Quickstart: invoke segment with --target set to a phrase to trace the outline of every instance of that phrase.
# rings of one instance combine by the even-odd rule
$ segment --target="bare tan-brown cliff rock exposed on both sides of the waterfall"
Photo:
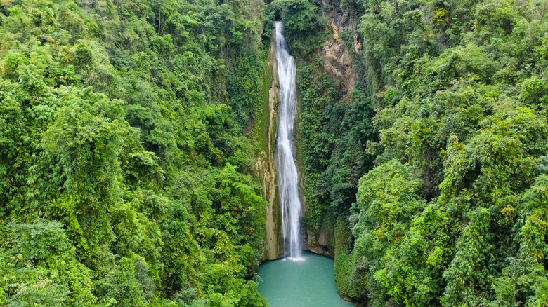
[[[318,51],[318,57],[322,60],[322,70],[333,79],[340,81],[339,93],[341,94],[341,103],[344,103],[350,100],[350,93],[356,80],[353,72],[352,54],[359,52],[362,48],[356,31],[358,22],[351,15],[344,12],[336,1],[322,0],[320,6],[328,20],[331,34],[325,43],[322,43],[322,48]],[[353,35],[351,38],[344,37],[345,39],[352,39],[351,43],[347,43],[341,37],[344,36],[343,33],[346,31]],[[276,123],[278,122],[276,107],[279,100],[279,81],[278,74],[276,74],[278,63],[275,59],[275,53],[275,31],[273,31],[267,62],[271,76],[268,95],[268,126],[265,128],[268,129],[268,150],[261,153],[261,158],[256,163],[256,170],[262,178],[263,193],[268,201],[266,209],[266,243],[268,249],[264,254],[264,259],[283,257],[280,200],[274,168]],[[297,139],[299,138],[297,137]],[[302,172],[299,170],[299,175],[301,174]],[[301,177],[301,186],[304,181]],[[304,203],[304,210],[306,210],[306,198],[301,195],[301,200]],[[319,229],[304,229],[302,235],[304,236],[305,250],[334,257],[334,227],[322,225]]]

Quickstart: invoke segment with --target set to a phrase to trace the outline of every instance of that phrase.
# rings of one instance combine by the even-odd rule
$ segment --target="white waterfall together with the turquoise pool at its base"
[[[350,306],[351,304],[343,301],[337,294],[333,261],[311,252],[303,255],[302,205],[293,150],[296,116],[295,60],[289,55],[282,23],[274,22],[274,27],[280,100],[275,165],[285,258],[261,264],[259,275],[262,281],[258,290],[273,307]]]

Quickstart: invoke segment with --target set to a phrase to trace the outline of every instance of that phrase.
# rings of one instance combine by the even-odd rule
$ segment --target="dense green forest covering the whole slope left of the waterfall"
[[[260,1],[0,1],[0,305],[263,306]]]

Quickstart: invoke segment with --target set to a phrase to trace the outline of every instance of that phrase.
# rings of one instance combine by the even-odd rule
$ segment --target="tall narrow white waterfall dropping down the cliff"
[[[295,59],[289,55],[282,35],[282,23],[275,22],[276,61],[280,82],[280,106],[278,139],[275,163],[278,173],[278,190],[282,210],[282,236],[286,256],[301,260],[301,200],[299,199],[299,177],[293,158],[293,122],[296,114]]]

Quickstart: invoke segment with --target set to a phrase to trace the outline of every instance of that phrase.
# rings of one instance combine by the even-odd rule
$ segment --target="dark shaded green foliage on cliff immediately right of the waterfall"
[[[299,129],[306,222],[310,226],[320,226],[325,214],[330,219],[348,215],[358,180],[372,165],[372,153],[363,149],[375,139],[373,110],[363,100],[363,92],[354,90],[351,101],[341,104],[339,85],[319,68],[305,66],[297,72],[303,104]]]

